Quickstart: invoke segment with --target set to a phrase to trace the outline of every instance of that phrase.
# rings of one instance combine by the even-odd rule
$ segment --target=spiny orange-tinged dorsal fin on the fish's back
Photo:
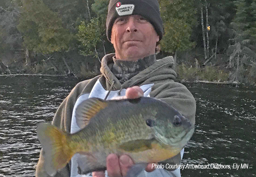
[[[100,98],[89,98],[81,102],[76,108],[76,123],[83,129],[101,109],[106,108],[107,102]]]

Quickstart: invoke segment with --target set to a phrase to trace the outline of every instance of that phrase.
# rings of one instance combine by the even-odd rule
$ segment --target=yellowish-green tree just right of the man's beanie
[[[190,0],[160,0],[160,12],[164,22],[165,35],[161,41],[161,49],[165,52],[187,50],[194,46],[190,36],[192,24],[196,21],[196,8]]]

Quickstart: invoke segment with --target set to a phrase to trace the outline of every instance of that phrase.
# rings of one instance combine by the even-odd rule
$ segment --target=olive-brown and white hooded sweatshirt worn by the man
[[[101,75],[95,78],[79,82],[70,94],[64,99],[56,114],[54,115],[52,124],[60,130],[68,133],[79,131],[76,124],[76,108],[85,99],[97,97],[112,99],[117,96],[124,96],[126,89],[132,86],[139,86],[144,91],[145,97],[154,97],[171,104],[182,115],[188,118],[192,124],[195,123],[196,102],[188,89],[175,82],[176,72],[172,69],[174,65],[173,57],[165,57],[156,62],[151,63],[141,72],[128,74],[127,79],[118,79],[118,63],[113,64],[114,53],[108,54],[102,58]],[[121,66],[122,67],[122,66]],[[113,70],[113,72],[112,72]],[[134,75],[134,76],[133,76]],[[184,149],[180,154],[171,159],[167,159],[159,164],[179,165],[183,156]],[[69,164],[58,171],[55,177],[78,177],[85,176],[78,174],[78,162],[80,154],[75,154]],[[36,177],[46,177],[44,171],[44,152],[41,150],[39,161],[36,169]],[[87,176],[90,176],[87,175]],[[106,174],[107,176],[107,174]],[[143,171],[139,177],[167,177],[181,176],[180,169],[156,169],[153,172]]]

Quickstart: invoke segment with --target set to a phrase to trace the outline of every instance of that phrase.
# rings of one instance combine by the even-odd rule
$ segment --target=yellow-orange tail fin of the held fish
[[[49,123],[39,123],[37,137],[44,150],[44,168],[53,176],[62,169],[73,156],[67,145],[67,135]]]

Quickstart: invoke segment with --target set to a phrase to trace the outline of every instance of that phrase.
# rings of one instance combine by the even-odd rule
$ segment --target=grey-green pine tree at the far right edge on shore
[[[237,12],[233,23],[231,23],[235,30],[235,37],[230,39],[233,45],[230,45],[227,51],[230,55],[228,66],[229,68],[236,68],[231,76],[233,80],[249,82],[248,72],[254,69],[253,66],[256,61],[256,53],[250,47],[255,41],[253,35],[255,16],[254,11],[252,11],[254,3],[251,3],[250,0],[237,0],[235,5]]]

